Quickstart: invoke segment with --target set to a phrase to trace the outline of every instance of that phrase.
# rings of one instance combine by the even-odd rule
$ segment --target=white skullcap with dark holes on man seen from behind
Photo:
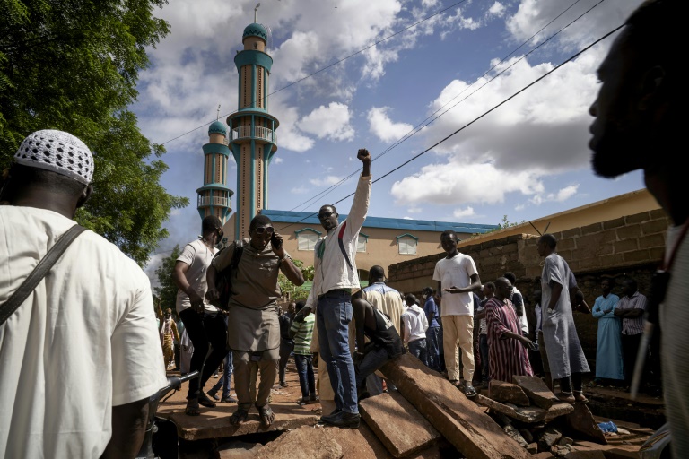
[[[14,160],[30,168],[52,170],[89,185],[93,157],[89,147],[72,134],[55,129],[36,131],[25,138]]]

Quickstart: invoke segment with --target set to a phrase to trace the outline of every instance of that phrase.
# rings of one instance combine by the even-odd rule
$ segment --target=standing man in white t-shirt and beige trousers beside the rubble
[[[472,292],[481,289],[474,259],[457,250],[457,233],[445,230],[440,235],[440,245],[448,254],[435,264],[433,281],[438,281],[442,291],[442,342],[445,349],[445,367],[453,385],[464,389],[467,397],[476,394],[474,385],[474,298]],[[464,385],[459,375],[458,350],[461,352]]]

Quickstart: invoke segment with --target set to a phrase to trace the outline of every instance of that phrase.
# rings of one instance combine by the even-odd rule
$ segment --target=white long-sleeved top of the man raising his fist
[[[307,307],[315,309],[318,295],[330,290],[361,288],[356,273],[356,246],[370,199],[371,176],[360,176],[349,214],[314,247],[313,286],[306,300]]]

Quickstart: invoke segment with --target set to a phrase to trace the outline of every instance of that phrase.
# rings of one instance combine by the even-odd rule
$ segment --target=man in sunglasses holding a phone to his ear
[[[234,243],[214,257],[206,273],[209,289],[206,299],[219,298],[215,275],[229,266],[234,256]],[[268,405],[270,389],[275,384],[280,361],[280,323],[277,299],[282,296],[278,274],[287,276],[294,285],[304,283],[301,270],[284,251],[283,237],[275,232],[273,221],[258,214],[249,223],[249,240],[242,243],[236,272],[231,273],[232,291],[227,304],[227,348],[232,350],[234,388],[238,407],[230,419],[232,425],[247,419],[255,404],[261,423],[269,426],[275,414]],[[252,369],[260,375],[256,400],[252,400]]]

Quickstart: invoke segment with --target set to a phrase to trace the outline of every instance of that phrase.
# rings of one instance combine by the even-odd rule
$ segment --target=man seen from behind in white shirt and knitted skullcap
[[[24,139],[0,191],[0,305],[74,226],[92,174],[74,135]],[[167,384],[151,282],[84,231],[0,325],[0,361],[0,457],[135,457]]]

